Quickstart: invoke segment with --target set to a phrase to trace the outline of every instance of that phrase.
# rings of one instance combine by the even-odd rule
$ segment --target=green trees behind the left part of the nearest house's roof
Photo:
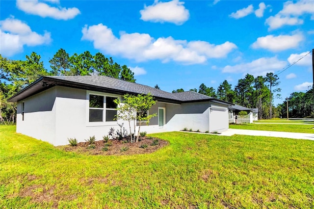
[[[49,60],[51,70],[44,67],[36,52],[26,55],[26,60],[12,60],[0,54],[0,124],[16,121],[16,104],[7,99],[41,76],[89,76],[100,75],[135,82],[134,73],[126,65],[119,65],[112,57],[86,51],[69,55],[59,49]]]

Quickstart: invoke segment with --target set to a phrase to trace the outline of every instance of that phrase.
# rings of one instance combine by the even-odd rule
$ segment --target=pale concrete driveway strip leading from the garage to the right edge
[[[281,132],[281,131],[255,131],[255,130],[242,130],[242,129],[228,129],[228,131],[224,131],[219,135],[232,136],[234,134],[250,135],[250,136],[273,136],[273,137],[292,138],[292,139],[314,140],[314,133],[292,133],[292,132]]]

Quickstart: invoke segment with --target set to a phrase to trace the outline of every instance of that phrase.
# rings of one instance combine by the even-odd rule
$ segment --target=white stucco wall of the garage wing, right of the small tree
[[[142,131],[148,133],[164,131],[180,131],[184,128],[193,131],[227,131],[228,123],[228,106],[214,104],[210,102],[183,103],[183,104],[166,104],[156,103],[149,111],[149,114],[157,112],[158,107],[165,107],[166,124],[158,127],[158,118],[151,119],[149,126],[142,126]],[[210,111],[210,109],[212,111]]]

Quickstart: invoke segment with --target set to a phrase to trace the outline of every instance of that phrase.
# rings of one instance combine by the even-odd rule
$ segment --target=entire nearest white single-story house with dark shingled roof
[[[113,100],[124,94],[151,93],[156,104],[148,114],[157,113],[141,131],[226,131],[229,128],[228,107],[231,103],[196,92],[169,93],[146,85],[105,76],[41,77],[9,102],[17,102],[18,133],[23,133],[54,146],[78,142],[95,135],[98,140],[117,123],[129,131],[126,121],[115,121]]]

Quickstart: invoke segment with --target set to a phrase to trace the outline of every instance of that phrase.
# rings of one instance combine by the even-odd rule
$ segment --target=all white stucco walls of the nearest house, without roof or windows
[[[124,127],[130,133],[127,121],[89,122],[89,93],[121,99],[121,95],[55,86],[18,103],[17,132],[47,141],[54,146],[69,144],[68,138],[84,142],[85,139],[95,135],[97,140],[101,140],[111,127],[118,130],[117,123],[124,123]],[[22,102],[25,102],[24,121],[21,113]],[[221,132],[229,128],[227,105],[224,107],[210,102],[184,104],[157,102],[149,110],[149,114],[158,114],[158,107],[165,108],[164,126],[159,127],[158,117],[154,117],[150,120],[149,126],[146,124],[141,126],[141,131],[154,133],[187,128],[193,131]],[[133,127],[131,129],[134,130]]]

